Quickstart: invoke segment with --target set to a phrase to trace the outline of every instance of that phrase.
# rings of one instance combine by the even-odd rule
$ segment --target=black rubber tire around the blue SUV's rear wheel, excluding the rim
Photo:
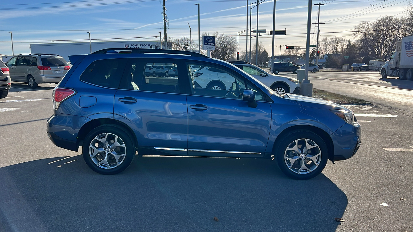
[[[90,158],[89,150],[90,150],[91,142],[95,139],[96,136],[101,135],[103,133],[110,133],[110,134],[117,135],[123,141],[125,145],[126,155],[121,160],[121,163],[119,164],[119,166],[109,168],[109,169],[102,168],[100,166],[97,166],[97,164],[95,164],[93,160]],[[88,135],[86,135],[85,139],[83,140],[82,152],[83,152],[83,159],[85,160],[86,164],[89,166],[90,169],[100,174],[114,175],[128,168],[128,166],[132,163],[133,159],[135,158],[136,151],[135,151],[135,146],[133,144],[132,136],[129,135],[129,133],[127,133],[124,128],[118,125],[106,124],[106,125],[98,126],[97,128],[91,130],[88,133]],[[116,162],[113,155],[109,157],[112,157],[111,161]]]

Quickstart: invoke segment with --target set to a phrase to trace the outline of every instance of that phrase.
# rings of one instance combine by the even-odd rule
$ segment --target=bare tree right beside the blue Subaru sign
[[[209,33],[202,33],[202,36],[209,36]],[[237,50],[237,39],[220,34],[218,31],[212,36],[215,36],[215,51],[211,51],[211,57],[221,60],[231,59]]]

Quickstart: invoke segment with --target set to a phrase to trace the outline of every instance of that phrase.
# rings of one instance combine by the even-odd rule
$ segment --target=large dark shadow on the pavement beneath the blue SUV
[[[323,174],[291,180],[274,165],[140,157],[100,175],[79,155],[6,166],[0,231],[335,231],[344,192]]]

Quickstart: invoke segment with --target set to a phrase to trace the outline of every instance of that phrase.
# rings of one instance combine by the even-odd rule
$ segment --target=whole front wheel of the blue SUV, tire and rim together
[[[275,151],[278,167],[290,178],[306,180],[323,171],[328,149],[324,140],[310,130],[293,130]]]

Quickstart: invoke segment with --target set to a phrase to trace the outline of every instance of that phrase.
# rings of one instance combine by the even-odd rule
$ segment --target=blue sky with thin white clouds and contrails
[[[30,52],[30,43],[52,43],[52,40],[88,41],[87,31],[91,32],[92,39],[149,37],[120,40],[158,41],[159,38],[154,36],[159,36],[159,31],[164,35],[162,0],[19,0],[18,3],[16,2],[16,0],[0,2],[2,21],[0,54],[12,54],[10,33],[7,31],[13,31],[14,54]],[[201,33],[218,31],[236,36],[237,32],[246,28],[246,2],[246,0],[167,0],[168,36],[189,37],[187,24],[189,22],[192,39],[197,43],[198,8],[194,3],[200,3]],[[325,3],[321,6],[320,22],[326,22],[320,24],[320,39],[337,35],[350,40],[353,40],[353,37],[348,31],[353,31],[354,26],[361,21],[375,20],[385,15],[401,17],[406,4],[406,0],[313,0],[313,3],[319,2]],[[275,45],[305,45],[305,34],[299,33],[306,33],[307,5],[308,1],[305,0],[277,0],[275,29],[286,29],[287,35],[276,36]],[[312,23],[316,23],[317,12],[318,7],[313,6]],[[272,17],[273,1],[266,0],[259,5],[259,29],[271,30]],[[252,11],[252,28],[256,28],[256,8]],[[315,25],[311,26],[311,32],[316,32]],[[240,51],[245,50],[245,40],[245,33],[242,33],[239,42]],[[271,36],[260,36],[259,41],[263,42],[271,55],[271,45],[269,45]],[[312,36],[311,44],[315,43],[316,36]],[[275,51],[275,54],[278,54],[279,48],[275,48]]]

